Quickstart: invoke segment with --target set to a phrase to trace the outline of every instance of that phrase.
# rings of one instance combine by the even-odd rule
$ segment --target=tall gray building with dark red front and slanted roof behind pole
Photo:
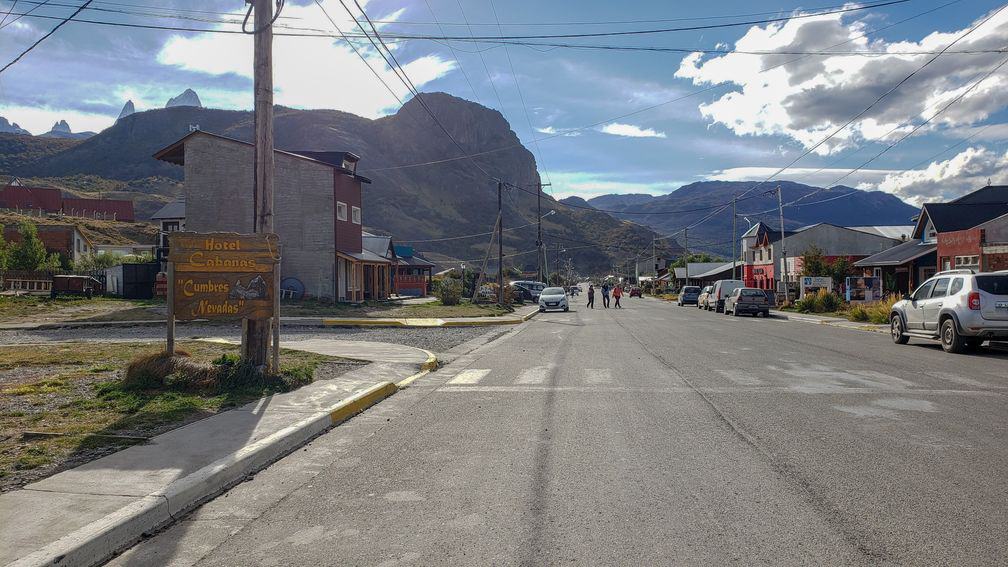
[[[195,232],[252,233],[254,146],[197,130],[154,157],[185,168],[184,223]],[[390,263],[362,245],[359,158],[349,152],[274,152],[274,227],[281,278],[307,296],[358,302],[386,299]],[[352,214],[351,214],[352,213]],[[384,270],[384,272],[382,271]]]

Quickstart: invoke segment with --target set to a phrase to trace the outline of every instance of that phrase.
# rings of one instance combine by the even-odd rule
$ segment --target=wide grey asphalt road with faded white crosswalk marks
[[[1008,562],[1008,355],[584,303],[116,563]]]

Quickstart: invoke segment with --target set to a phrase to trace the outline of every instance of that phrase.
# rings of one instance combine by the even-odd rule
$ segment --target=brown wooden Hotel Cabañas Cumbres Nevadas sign
[[[279,239],[275,234],[180,232],[168,236],[175,319],[273,316]]]

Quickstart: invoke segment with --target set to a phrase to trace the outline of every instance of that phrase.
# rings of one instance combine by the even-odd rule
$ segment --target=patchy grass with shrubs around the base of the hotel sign
[[[179,347],[173,357],[149,343],[0,347],[0,490],[128,447],[131,437],[296,388],[339,360],[281,350],[278,374],[250,380],[237,345]]]

